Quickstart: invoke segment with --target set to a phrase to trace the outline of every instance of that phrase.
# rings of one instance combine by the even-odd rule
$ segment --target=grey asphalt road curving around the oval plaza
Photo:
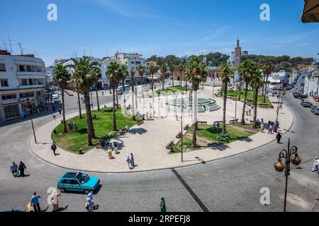
[[[108,98],[108,97],[106,97]],[[289,211],[310,211],[318,191],[318,174],[311,172],[313,157],[318,155],[318,116],[301,107],[299,100],[287,93],[295,119],[283,138],[284,144],[270,143],[249,153],[203,165],[129,174],[92,174],[101,179],[101,189],[94,196],[99,211],[159,211],[159,200],[165,197],[167,210],[172,211],[282,211],[284,202],[284,173],[274,170],[274,162],[288,138],[298,146],[303,162],[291,167],[289,177]],[[69,107],[71,106],[71,107]],[[74,104],[77,106],[77,103]],[[68,105],[68,113],[76,111]],[[75,107],[76,108],[76,107]],[[284,117],[280,114],[280,117]],[[52,120],[44,115],[34,120],[35,128]],[[0,127],[0,210],[25,210],[33,191],[43,194],[41,208],[47,207],[47,189],[55,187],[65,172],[39,160],[28,150],[32,129],[30,121]],[[23,160],[28,177],[13,178],[11,162]],[[135,160],[138,164],[138,160]],[[156,162],[154,162],[156,164]],[[270,190],[270,204],[259,202],[260,189]],[[86,211],[86,195],[65,193],[60,196],[63,211]]]

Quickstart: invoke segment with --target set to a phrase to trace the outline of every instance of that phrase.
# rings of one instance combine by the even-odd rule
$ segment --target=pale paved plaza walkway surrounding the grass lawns
[[[211,88],[200,90],[198,97],[211,97]],[[276,106],[276,97],[270,97]],[[198,114],[198,121],[219,121],[223,117],[223,100],[216,97],[215,100],[221,105],[221,109],[216,112],[206,112]],[[145,104],[146,105],[146,104]],[[227,103],[227,121],[235,117],[235,102],[228,100]],[[237,118],[240,118],[242,112],[242,102],[237,102]],[[70,114],[67,119],[75,117],[76,114]],[[276,120],[276,109],[259,109],[258,118],[264,118],[264,121]],[[247,117],[251,120],[252,116]],[[186,118],[190,122],[190,118]],[[131,133],[125,136],[118,136],[111,142],[118,142],[120,154],[113,156],[113,160],[109,160],[105,150],[93,149],[84,155],[70,153],[61,148],[57,148],[56,153],[60,155],[54,156],[50,150],[52,143],[51,132],[60,121],[51,121],[36,131],[38,143],[34,143],[33,136],[30,138],[30,150],[46,162],[52,165],[65,167],[67,169],[81,170],[86,172],[137,172],[153,169],[165,169],[172,167],[182,167],[186,165],[194,165],[202,161],[208,162],[218,160],[220,158],[244,153],[248,150],[258,148],[274,141],[275,134],[256,133],[249,138],[235,141],[226,145],[206,148],[184,153],[184,162],[181,162],[181,154],[169,154],[165,148],[169,141],[176,140],[175,136],[180,131],[180,121],[176,121],[174,117],[159,117],[145,121],[141,126],[135,126],[131,129]],[[293,124],[293,115],[284,105],[280,109],[279,121],[281,123],[281,132],[286,133]],[[107,147],[106,147],[107,149]],[[128,169],[125,162],[126,155],[133,153],[135,156],[135,169]]]

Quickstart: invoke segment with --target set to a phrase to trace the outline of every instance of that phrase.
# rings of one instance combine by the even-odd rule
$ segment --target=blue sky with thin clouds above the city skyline
[[[47,20],[49,4],[57,20]],[[262,21],[262,4],[270,20]],[[237,37],[250,54],[318,57],[319,23],[302,23],[303,0],[14,0],[1,1],[0,49],[55,59],[138,52],[230,54]]]

